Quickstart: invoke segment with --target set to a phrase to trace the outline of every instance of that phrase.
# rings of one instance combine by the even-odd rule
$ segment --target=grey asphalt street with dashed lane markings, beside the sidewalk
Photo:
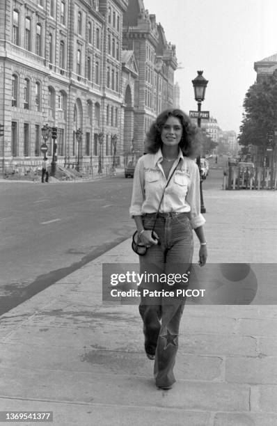
[[[203,193],[221,187],[212,170]],[[1,182],[0,314],[132,235],[132,179],[29,184]]]

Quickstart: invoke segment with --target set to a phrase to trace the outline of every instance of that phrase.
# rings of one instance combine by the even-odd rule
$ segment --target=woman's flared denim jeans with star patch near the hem
[[[145,214],[144,228],[152,229],[154,221],[155,214]],[[189,214],[159,214],[155,232],[160,244],[140,256],[140,272],[145,274],[141,290],[145,292],[141,291],[139,313],[143,319],[145,352],[155,354],[156,385],[168,387],[175,382],[173,367],[193,255]]]

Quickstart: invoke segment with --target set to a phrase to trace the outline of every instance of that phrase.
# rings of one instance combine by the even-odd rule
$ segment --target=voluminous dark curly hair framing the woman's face
[[[191,123],[189,116],[181,109],[166,109],[157,116],[146,134],[145,153],[155,154],[161,148],[161,129],[168,117],[178,118],[182,125],[183,132],[179,146],[183,155],[191,158],[196,158],[200,155],[201,133],[198,127]]]

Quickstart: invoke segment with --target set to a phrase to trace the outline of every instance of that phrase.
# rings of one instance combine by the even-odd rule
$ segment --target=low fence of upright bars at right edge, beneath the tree
[[[277,168],[230,166],[223,172],[223,189],[277,189]]]

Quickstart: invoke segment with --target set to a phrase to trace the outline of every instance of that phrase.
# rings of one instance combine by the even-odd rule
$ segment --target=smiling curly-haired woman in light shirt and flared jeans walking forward
[[[155,359],[155,381],[162,389],[171,388],[175,382],[173,366],[185,301],[185,297],[176,297],[176,294],[177,289],[185,290],[188,286],[180,277],[189,277],[192,229],[200,242],[199,265],[205,265],[207,259],[205,219],[200,214],[199,171],[191,159],[199,152],[199,145],[198,129],[189,117],[179,109],[168,109],[151,125],[145,143],[147,153],[139,159],[134,173],[129,212],[136,222],[141,243],[148,246],[147,253],[139,256],[140,271],[157,281],[153,283],[145,278],[139,312],[143,319],[145,352],[148,358]],[[161,282],[161,276],[171,280]],[[153,293],[143,289],[159,290],[155,293],[158,296],[153,298]],[[161,290],[171,290],[174,296],[164,297]]]

